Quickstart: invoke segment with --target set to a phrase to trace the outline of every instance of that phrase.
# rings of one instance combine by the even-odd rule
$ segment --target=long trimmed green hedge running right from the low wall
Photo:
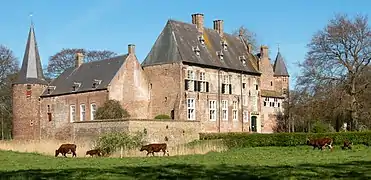
[[[334,145],[342,145],[344,140],[353,144],[371,143],[371,131],[367,132],[338,132],[338,133],[200,133],[200,140],[222,139],[230,148],[259,147],[259,146],[299,146],[306,145],[307,138],[330,137]]]

